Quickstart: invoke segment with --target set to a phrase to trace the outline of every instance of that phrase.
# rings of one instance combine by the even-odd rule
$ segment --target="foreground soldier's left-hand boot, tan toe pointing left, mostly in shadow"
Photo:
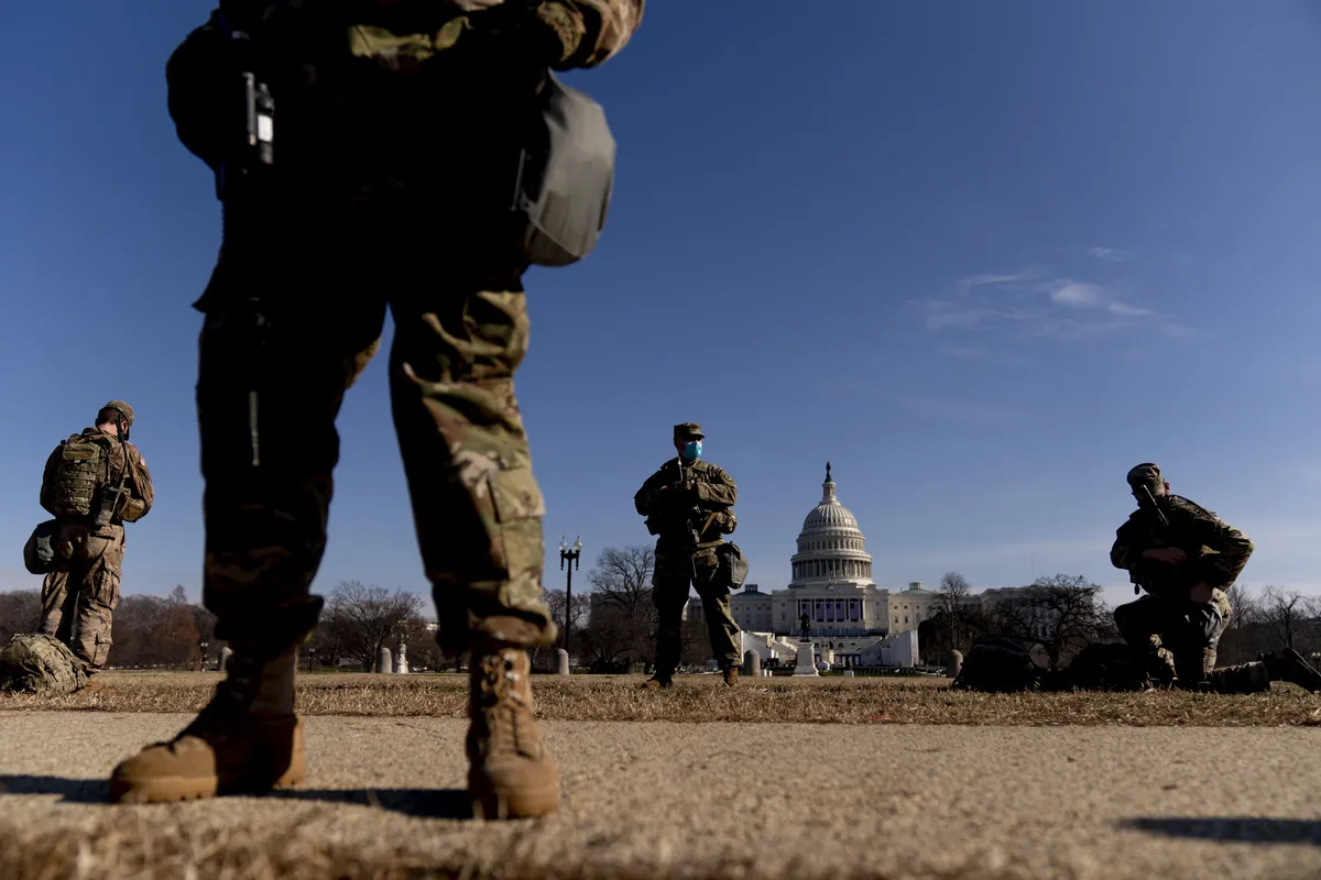
[[[148,745],[110,777],[110,800],[149,803],[262,794],[301,782],[303,722],[293,712],[296,649],[272,660],[235,653],[211,702],[168,743]]]

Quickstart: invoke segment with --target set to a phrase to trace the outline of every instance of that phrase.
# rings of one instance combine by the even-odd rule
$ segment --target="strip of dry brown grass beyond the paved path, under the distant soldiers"
[[[46,699],[0,694],[4,710],[193,712],[211,695],[215,673],[106,673],[92,687]],[[1321,699],[1292,685],[1267,694],[976,694],[947,690],[942,678],[744,679],[680,677],[653,693],[635,676],[539,676],[538,712],[548,720],[811,722],[835,724],[1197,724],[1273,727],[1321,724]],[[308,715],[461,716],[464,676],[325,674],[299,678]]]

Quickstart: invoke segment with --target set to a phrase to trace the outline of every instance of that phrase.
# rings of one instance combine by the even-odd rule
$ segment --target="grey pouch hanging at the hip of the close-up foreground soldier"
[[[514,182],[518,245],[532,265],[565,267],[596,247],[614,190],[614,136],[587,94],[546,80]]]

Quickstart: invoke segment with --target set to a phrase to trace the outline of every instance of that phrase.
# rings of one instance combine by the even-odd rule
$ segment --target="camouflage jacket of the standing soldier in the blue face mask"
[[[686,489],[686,483],[692,488]],[[699,530],[700,545],[715,546],[724,542],[721,534],[732,534],[738,526],[733,512],[737,500],[738,487],[720,467],[703,460],[682,464],[672,458],[647,478],[633,496],[633,507],[647,517],[647,530],[659,536],[657,546],[691,544],[690,521]],[[700,511],[700,521],[694,507]]]

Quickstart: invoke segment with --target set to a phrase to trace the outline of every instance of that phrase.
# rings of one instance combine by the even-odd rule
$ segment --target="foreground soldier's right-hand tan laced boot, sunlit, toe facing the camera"
[[[531,661],[517,645],[473,646],[468,690],[468,797],[478,819],[546,815],[560,767],[532,714]]]

